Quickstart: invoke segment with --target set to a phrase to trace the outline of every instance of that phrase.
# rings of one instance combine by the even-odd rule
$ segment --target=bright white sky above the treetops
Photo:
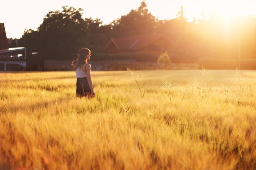
[[[25,29],[36,30],[49,11],[61,10],[61,6],[84,9],[83,17],[99,18],[103,24],[137,9],[142,0],[3,0],[0,4],[0,23],[4,23],[7,38],[20,38]],[[145,0],[149,12],[159,19],[175,18],[183,5],[185,17],[207,17],[215,12],[222,17],[256,15],[256,0]],[[2,6],[3,5],[3,6]]]

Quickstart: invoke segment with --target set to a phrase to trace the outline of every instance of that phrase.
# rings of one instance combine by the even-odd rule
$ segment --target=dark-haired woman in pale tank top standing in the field
[[[79,50],[77,60],[71,64],[76,74],[76,97],[95,97],[93,82],[91,81],[91,65],[87,63],[90,56],[91,51],[82,48]]]

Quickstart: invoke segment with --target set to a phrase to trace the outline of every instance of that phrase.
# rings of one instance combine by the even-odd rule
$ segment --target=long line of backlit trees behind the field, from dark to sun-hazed
[[[18,44],[27,47],[29,54],[40,53],[47,60],[72,60],[82,47],[92,50],[92,58],[103,60],[111,37],[160,33],[171,39],[168,53],[179,62],[237,58],[238,49],[241,57],[256,58],[255,16],[236,17],[227,24],[215,14],[189,22],[184,13],[181,6],[176,18],[159,20],[142,1],[136,10],[103,25],[99,18],[83,18],[81,8],[63,6],[62,11],[48,12],[37,30],[25,30]]]

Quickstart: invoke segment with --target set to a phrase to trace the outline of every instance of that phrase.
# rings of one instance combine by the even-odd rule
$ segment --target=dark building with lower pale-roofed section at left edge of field
[[[26,48],[9,48],[4,24],[0,23],[0,71],[26,70]]]

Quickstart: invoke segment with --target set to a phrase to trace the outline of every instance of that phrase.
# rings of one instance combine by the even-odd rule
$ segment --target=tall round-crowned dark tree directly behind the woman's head
[[[39,51],[48,59],[74,59],[89,45],[90,31],[82,18],[82,9],[62,6],[62,11],[48,12],[38,28]]]

